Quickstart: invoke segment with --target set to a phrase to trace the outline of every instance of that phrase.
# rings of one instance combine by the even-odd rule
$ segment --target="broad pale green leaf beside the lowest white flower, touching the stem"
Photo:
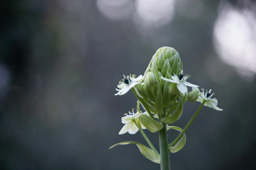
[[[163,128],[163,125],[158,123],[156,120],[150,118],[145,114],[139,114],[135,117],[136,122],[138,121],[145,126],[150,132],[157,132]]]

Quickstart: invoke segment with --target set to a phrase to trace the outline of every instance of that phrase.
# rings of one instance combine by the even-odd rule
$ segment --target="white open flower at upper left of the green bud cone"
[[[132,75],[132,77],[127,76],[125,77],[124,75],[124,79],[123,82],[120,82],[121,84],[117,85],[117,87],[119,89],[115,89],[118,91],[118,93],[116,93],[115,95],[124,95],[125,93],[127,93],[131,88],[133,88],[135,85],[140,84],[141,80],[143,79],[143,76],[140,75],[139,77],[135,78],[135,75]],[[136,94],[140,97],[143,98],[140,93],[138,92],[138,90],[136,88],[134,88]]]

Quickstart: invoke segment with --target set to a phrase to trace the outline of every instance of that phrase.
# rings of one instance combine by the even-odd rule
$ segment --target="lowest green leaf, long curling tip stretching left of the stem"
[[[129,141],[129,142],[121,142],[121,143],[118,143],[118,144],[115,144],[113,146],[111,146],[109,149],[115,147],[116,145],[126,145],[126,144],[136,144],[137,147],[140,149],[140,152],[147,158],[149,159],[150,161],[154,162],[154,163],[160,163],[160,155],[156,155],[152,149],[149,149],[148,147],[142,145],[141,143],[138,143],[138,142],[132,142],[132,141]]]

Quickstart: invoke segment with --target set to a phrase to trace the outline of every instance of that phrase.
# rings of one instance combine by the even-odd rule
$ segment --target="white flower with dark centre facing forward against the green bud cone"
[[[174,76],[172,76],[172,80],[168,79],[168,78],[164,78],[164,77],[161,77],[161,78],[165,81],[168,81],[168,82],[177,83],[177,88],[179,89],[179,92],[181,92],[182,94],[184,94],[188,91],[187,86],[199,87],[197,85],[186,82],[186,79],[188,79],[189,76],[184,76],[183,75],[183,70],[181,71],[181,74],[179,74],[179,76],[174,74]]]

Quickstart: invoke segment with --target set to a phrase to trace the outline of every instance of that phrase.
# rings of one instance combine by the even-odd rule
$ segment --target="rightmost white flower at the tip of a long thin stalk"
[[[198,99],[196,100],[197,102],[203,103],[203,101],[205,100],[206,102],[205,102],[204,106],[212,107],[213,109],[219,110],[219,111],[222,111],[222,110],[223,110],[223,109],[220,109],[220,108],[217,107],[218,101],[217,101],[216,98],[211,99],[211,97],[212,97],[213,94],[214,94],[214,93],[212,93],[212,95],[210,94],[210,92],[212,91],[212,89],[210,89],[209,92],[207,92],[207,90],[206,90],[206,93],[205,93],[205,94],[204,94],[204,89],[202,89],[202,90],[203,90],[202,93],[200,93],[200,91],[199,91],[199,89],[198,89],[197,87],[192,87],[192,90],[199,92],[199,94],[198,94],[199,97],[198,97]]]

